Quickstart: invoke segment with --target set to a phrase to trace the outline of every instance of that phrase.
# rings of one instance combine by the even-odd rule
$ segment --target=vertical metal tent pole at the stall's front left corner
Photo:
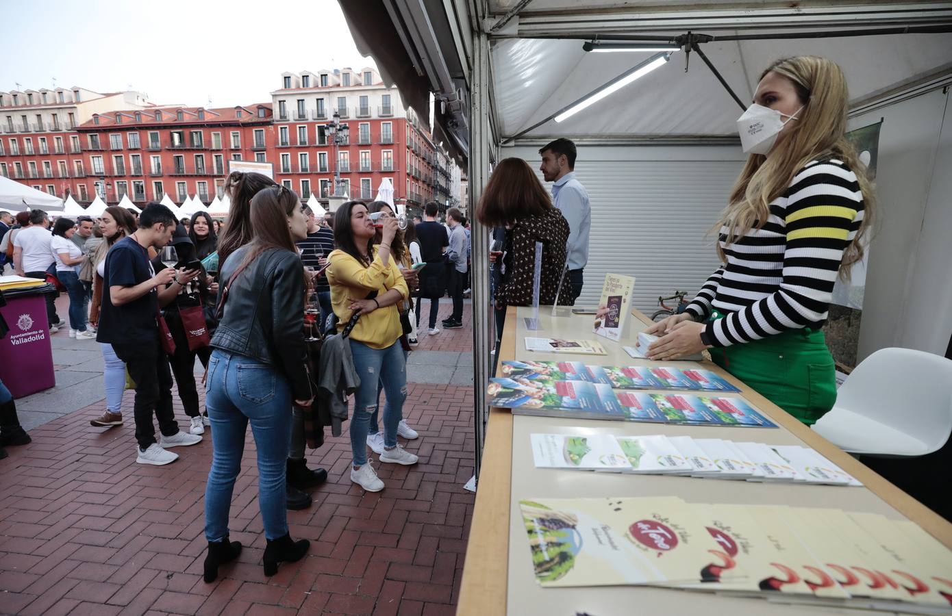
[[[473,32],[473,68],[469,98],[469,203],[467,218],[472,246],[472,328],[473,328],[473,433],[475,435],[474,469],[479,478],[486,441],[486,383],[488,383],[489,351],[493,338],[489,335],[489,231],[476,220],[479,203],[488,179],[490,149],[495,147],[489,126],[489,39],[485,31]]]

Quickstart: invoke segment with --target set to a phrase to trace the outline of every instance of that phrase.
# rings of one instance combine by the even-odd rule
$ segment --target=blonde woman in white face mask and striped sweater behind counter
[[[719,229],[718,268],[687,310],[647,331],[648,357],[711,358],[803,424],[836,401],[823,323],[837,277],[863,258],[874,196],[846,142],[843,71],[816,56],[761,76],[738,119],[750,154]]]

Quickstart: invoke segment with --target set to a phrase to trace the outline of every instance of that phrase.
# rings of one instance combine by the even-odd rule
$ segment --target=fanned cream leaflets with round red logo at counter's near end
[[[908,520],[676,497],[533,498],[519,505],[540,586],[663,586],[783,604],[952,614],[952,551]]]

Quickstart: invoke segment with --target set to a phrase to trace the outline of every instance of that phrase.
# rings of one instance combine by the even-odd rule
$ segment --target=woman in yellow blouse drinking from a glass
[[[370,414],[377,407],[378,381],[383,383],[387,394],[384,452],[380,454],[380,461],[412,465],[418,460],[397,444],[397,425],[407,399],[407,363],[399,342],[403,328],[397,304],[407,299],[409,291],[390,255],[397,220],[382,218],[381,224],[383,239],[374,246],[376,229],[367,206],[360,201],[348,201],[334,215],[334,243],[338,248],[327,255],[330,303],[337,315],[338,328],[343,329],[355,311],[361,315],[349,335],[354,369],[361,382],[354,400],[354,416],[350,419],[353,452],[350,481],[369,492],[384,489],[384,482],[367,460],[367,429]],[[367,297],[371,293],[375,295]]]

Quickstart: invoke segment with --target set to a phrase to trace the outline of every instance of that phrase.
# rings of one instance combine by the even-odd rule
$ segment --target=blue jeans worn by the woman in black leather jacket
[[[285,474],[291,429],[288,379],[268,364],[216,348],[208,359],[205,406],[212,427],[206,538],[221,541],[228,535],[228,510],[241,470],[248,421],[258,449],[258,507],[265,537],[284,537],[288,534]]]

